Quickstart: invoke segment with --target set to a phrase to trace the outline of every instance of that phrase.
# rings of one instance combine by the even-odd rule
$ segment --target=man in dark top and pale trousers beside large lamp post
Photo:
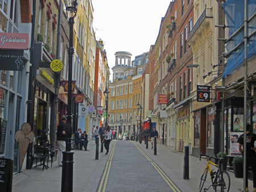
[[[66,149],[66,122],[67,122],[67,116],[61,117],[61,123],[58,126],[57,129],[57,144],[58,144],[58,164],[59,166],[62,166],[62,160],[63,160],[63,154],[62,152]]]

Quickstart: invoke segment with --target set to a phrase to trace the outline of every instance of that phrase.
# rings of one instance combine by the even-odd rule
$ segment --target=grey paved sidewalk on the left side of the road
[[[113,142],[110,143],[110,148]],[[96,144],[94,140],[89,141],[88,149],[90,151],[74,150],[73,165],[73,191],[96,191],[101,174],[104,170],[108,156],[100,152],[99,159],[95,160]],[[58,166],[57,161],[53,162],[52,168],[42,170],[42,166],[23,170],[23,173],[13,176],[13,191],[61,191],[61,173],[62,166]]]

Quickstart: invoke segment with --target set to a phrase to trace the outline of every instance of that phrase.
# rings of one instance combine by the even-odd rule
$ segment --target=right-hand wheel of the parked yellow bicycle
[[[215,184],[215,191],[228,192],[230,187],[230,177],[228,172],[223,170],[222,172],[218,173]]]

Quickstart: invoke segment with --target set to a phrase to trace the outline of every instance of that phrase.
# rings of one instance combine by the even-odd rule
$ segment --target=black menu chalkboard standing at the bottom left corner
[[[13,185],[13,160],[0,158],[0,191],[11,191]]]

